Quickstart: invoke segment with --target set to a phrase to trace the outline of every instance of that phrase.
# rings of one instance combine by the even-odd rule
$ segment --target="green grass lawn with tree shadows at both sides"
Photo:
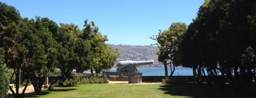
[[[226,90],[195,84],[133,85],[87,84],[75,87],[54,87],[40,94],[26,94],[27,98],[239,98]]]

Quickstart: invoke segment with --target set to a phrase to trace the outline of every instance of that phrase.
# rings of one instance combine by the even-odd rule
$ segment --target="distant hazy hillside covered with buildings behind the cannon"
[[[113,48],[119,48],[121,56],[118,59],[121,60],[132,60],[132,61],[151,61],[155,62],[155,66],[150,65],[150,67],[159,67],[157,61],[158,56],[156,51],[157,46],[151,45],[111,45]]]

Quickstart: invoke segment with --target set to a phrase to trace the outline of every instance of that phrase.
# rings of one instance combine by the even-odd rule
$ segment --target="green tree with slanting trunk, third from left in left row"
[[[63,82],[71,72],[83,63],[79,55],[84,54],[84,49],[87,49],[87,45],[79,38],[80,35],[82,35],[82,32],[78,26],[74,24],[60,24],[59,30],[54,36],[60,45],[57,56],[57,68],[62,72],[61,77],[57,79],[59,80],[59,85],[63,85]],[[78,47],[79,45],[82,47]]]

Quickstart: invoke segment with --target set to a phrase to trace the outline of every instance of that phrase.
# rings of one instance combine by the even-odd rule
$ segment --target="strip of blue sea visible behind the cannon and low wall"
[[[142,72],[142,76],[165,76],[165,68],[137,68],[138,72]],[[116,72],[116,69],[110,71]],[[168,75],[170,75],[168,68]],[[175,68],[173,76],[193,76],[191,68]]]

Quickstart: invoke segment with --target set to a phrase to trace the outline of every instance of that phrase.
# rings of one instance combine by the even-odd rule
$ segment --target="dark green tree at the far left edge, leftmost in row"
[[[5,3],[0,2],[0,46],[5,50],[5,63],[8,68],[14,69],[12,76],[15,76],[15,87],[16,92],[11,89],[12,94],[15,98],[21,98],[24,93],[19,94],[19,69],[24,67],[24,56],[26,53],[24,46],[20,44],[22,42],[21,33],[18,31],[18,25],[21,21],[21,17],[18,11]],[[12,77],[10,78],[12,79]],[[23,92],[26,89],[23,90]]]

